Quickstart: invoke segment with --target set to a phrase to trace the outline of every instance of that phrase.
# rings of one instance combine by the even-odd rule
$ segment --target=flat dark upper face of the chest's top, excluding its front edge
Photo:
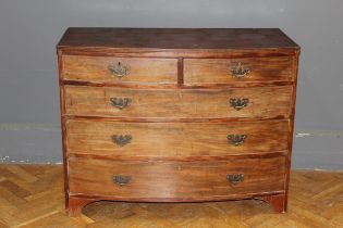
[[[59,50],[120,49],[299,49],[279,28],[69,28]]]

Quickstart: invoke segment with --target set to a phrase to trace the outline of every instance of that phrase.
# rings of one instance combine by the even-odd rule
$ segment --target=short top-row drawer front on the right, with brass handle
[[[294,59],[292,56],[256,59],[185,59],[184,84],[293,81],[293,65]]]

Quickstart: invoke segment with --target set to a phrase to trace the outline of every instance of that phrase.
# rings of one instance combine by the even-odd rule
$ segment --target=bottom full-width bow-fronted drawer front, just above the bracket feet
[[[113,162],[71,157],[68,166],[70,194],[200,201],[284,190],[283,156],[228,162]]]

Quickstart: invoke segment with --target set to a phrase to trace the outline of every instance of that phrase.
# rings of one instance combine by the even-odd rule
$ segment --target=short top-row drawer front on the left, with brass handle
[[[64,55],[63,77],[93,83],[176,84],[177,60]]]

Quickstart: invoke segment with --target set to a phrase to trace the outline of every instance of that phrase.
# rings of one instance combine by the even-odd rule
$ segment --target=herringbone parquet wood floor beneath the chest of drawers
[[[289,212],[273,214],[261,201],[216,203],[97,202],[84,215],[64,213],[61,165],[0,165],[0,228],[3,227],[343,227],[343,172],[291,175]]]

